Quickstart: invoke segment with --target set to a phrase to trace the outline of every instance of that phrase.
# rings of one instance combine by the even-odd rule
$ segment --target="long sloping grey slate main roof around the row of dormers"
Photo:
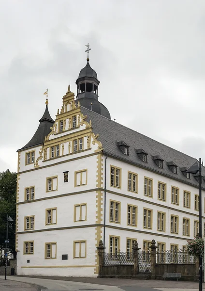
[[[199,183],[190,175],[190,179],[186,178],[180,168],[187,167],[188,169],[197,160],[192,158],[172,147],[165,146],[146,135],[139,133],[133,129],[129,129],[113,120],[110,120],[98,113],[88,110],[81,106],[81,111],[87,115],[87,121],[91,120],[94,134],[99,134],[98,140],[102,143],[104,153],[120,158],[125,162],[132,162],[133,164],[150,169],[158,174],[165,175],[170,178],[178,179],[184,183],[190,183],[193,186],[199,187]],[[117,142],[123,141],[129,147],[129,156],[121,152],[117,146]],[[137,155],[136,149],[143,149],[148,153],[147,162],[143,162]],[[163,168],[157,166],[152,159],[153,156],[160,156],[163,162]],[[167,162],[174,162],[178,166],[177,174],[174,174]],[[205,168],[202,167],[202,176],[205,176]],[[203,181],[203,188],[205,182]]]

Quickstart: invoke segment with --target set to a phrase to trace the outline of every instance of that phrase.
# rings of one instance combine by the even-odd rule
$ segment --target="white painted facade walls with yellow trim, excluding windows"
[[[137,239],[141,249],[143,248],[143,241],[153,239],[157,243],[165,243],[167,250],[170,249],[171,244],[176,244],[178,248],[182,248],[187,240],[194,236],[194,220],[199,220],[199,211],[194,210],[194,194],[198,194],[198,189],[127,162],[111,157],[106,159],[100,144],[96,142],[96,136],[91,134],[92,128],[89,120],[87,120],[88,123],[84,122],[85,118],[80,115],[79,108],[75,108],[73,114],[77,115],[79,127],[69,129],[69,119],[71,122],[72,118],[70,113],[68,112],[67,117],[66,114],[62,113],[66,120],[63,132],[58,133],[58,120],[60,119],[56,120],[57,132],[53,132],[49,136],[43,149],[42,146],[36,146],[19,151],[16,228],[17,274],[97,276],[98,255],[96,246],[100,240],[104,241],[104,212],[106,218],[104,241],[106,252],[109,252],[110,236],[119,238],[120,250],[124,252],[127,248],[127,238]],[[78,115],[80,115],[80,118],[78,118]],[[81,133],[83,149],[75,153],[73,152],[73,139],[75,137],[79,138]],[[97,132],[94,132],[94,134],[97,134]],[[72,136],[71,140],[69,140],[70,136]],[[60,141],[58,140],[59,137]],[[50,159],[52,141],[59,144],[60,149],[59,156]],[[46,146],[46,143],[48,146]],[[64,146],[63,155],[62,145]],[[46,159],[45,146],[47,148]],[[35,151],[35,164],[26,164],[26,153],[33,150]],[[42,158],[36,163],[41,156]],[[101,164],[99,163],[100,159],[102,159]],[[111,165],[121,168],[121,189],[110,185]],[[87,183],[76,187],[75,172],[81,170],[87,171]],[[68,171],[68,182],[64,182],[63,172],[65,171]],[[138,176],[137,193],[128,191],[128,171],[136,173]],[[57,177],[57,190],[47,191],[46,179],[48,177]],[[152,197],[144,195],[144,177],[153,180]],[[158,181],[166,183],[166,201],[158,200]],[[178,206],[171,203],[172,186],[179,188]],[[35,189],[34,200],[32,201],[25,201],[25,189],[28,187],[34,187]],[[183,207],[184,190],[190,192],[190,209]],[[104,208],[105,192],[106,207]],[[202,201],[204,201],[204,191],[202,195]],[[120,203],[118,223],[110,222],[110,201]],[[75,221],[75,205],[78,204],[86,204],[86,220]],[[128,204],[137,207],[137,226],[127,225]],[[152,210],[151,229],[143,228],[144,208]],[[46,210],[48,209],[56,209],[55,224],[46,224]],[[157,231],[157,211],[165,213],[164,231]],[[202,212],[205,212],[204,203]],[[171,215],[178,216],[177,234],[171,233]],[[34,227],[25,230],[25,217],[31,216],[34,217]],[[190,219],[189,236],[184,236],[182,233],[183,218]],[[32,254],[25,253],[25,242],[33,242]],[[74,258],[74,242],[86,242],[85,258]],[[53,252],[56,252],[55,258],[45,258],[46,243],[55,243],[56,250],[53,249]],[[68,258],[62,259],[62,255],[68,255]]]

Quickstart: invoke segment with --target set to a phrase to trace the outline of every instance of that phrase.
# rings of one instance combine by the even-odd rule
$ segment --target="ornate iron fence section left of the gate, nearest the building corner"
[[[130,252],[104,253],[104,265],[133,265],[133,254]]]

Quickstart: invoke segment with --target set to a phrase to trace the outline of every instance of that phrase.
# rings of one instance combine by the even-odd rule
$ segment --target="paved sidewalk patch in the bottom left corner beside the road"
[[[40,291],[41,287],[13,280],[0,279],[0,291]]]

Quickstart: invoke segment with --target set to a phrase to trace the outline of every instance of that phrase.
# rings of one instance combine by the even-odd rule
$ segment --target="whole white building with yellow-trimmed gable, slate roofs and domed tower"
[[[18,275],[97,276],[100,240],[106,252],[152,239],[168,250],[199,231],[199,181],[186,173],[196,160],[112,121],[89,62],[76,84],[55,121],[46,101],[18,150]]]

